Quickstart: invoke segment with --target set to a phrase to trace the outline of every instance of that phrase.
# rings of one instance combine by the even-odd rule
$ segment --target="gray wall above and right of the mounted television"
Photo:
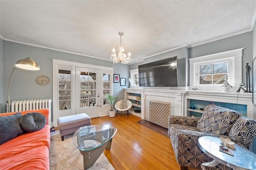
[[[142,62],[131,64],[129,69],[138,69],[138,65],[151,63],[154,61],[158,61],[161,59],[178,57],[177,65],[178,65],[178,86],[186,86],[186,62],[188,57],[188,47],[182,47],[179,49],[175,49],[172,51],[168,51],[166,53],[158,54],[152,57],[145,58]]]

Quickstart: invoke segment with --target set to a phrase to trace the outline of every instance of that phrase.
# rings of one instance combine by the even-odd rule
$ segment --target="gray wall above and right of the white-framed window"
[[[188,58],[200,57],[203,55],[209,55],[214,53],[220,53],[223,51],[229,51],[232,49],[243,48],[242,56],[242,81],[246,84],[246,63],[252,66],[252,32],[246,32],[237,36],[224,38],[214,42],[191,47],[188,50]],[[252,80],[252,74],[250,74],[250,80]],[[241,82],[242,83],[242,82]],[[252,87],[252,81],[250,81]]]

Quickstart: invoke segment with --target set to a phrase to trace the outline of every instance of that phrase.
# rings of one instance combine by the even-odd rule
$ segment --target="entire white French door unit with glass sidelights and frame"
[[[52,59],[52,73],[53,126],[68,115],[108,115],[105,95],[113,95],[113,68]]]

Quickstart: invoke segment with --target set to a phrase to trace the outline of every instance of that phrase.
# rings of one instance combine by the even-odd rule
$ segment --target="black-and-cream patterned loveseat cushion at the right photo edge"
[[[228,136],[236,143],[242,144],[247,149],[256,136],[256,121],[241,116],[231,128]]]

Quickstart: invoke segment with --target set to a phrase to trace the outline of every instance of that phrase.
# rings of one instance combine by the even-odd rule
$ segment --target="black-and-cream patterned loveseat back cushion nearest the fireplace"
[[[230,121],[229,109],[217,105],[208,105],[197,123],[197,128],[204,133],[224,135],[227,134]]]

